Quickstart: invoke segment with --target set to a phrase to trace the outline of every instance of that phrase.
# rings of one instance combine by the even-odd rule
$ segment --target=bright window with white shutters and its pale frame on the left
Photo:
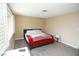
[[[8,48],[9,40],[14,33],[14,16],[10,10],[8,13],[7,4],[0,3],[0,55]]]

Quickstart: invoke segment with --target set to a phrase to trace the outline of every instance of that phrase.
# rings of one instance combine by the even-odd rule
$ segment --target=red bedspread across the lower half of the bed
[[[29,44],[32,46],[37,46],[43,43],[47,43],[47,42],[53,42],[54,41],[54,37],[52,35],[49,34],[45,34],[45,35],[28,35],[27,36],[29,39]]]

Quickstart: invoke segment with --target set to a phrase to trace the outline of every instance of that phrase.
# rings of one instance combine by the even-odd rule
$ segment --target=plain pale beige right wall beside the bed
[[[45,30],[54,35],[60,35],[60,41],[79,47],[79,12],[66,14],[46,20]]]

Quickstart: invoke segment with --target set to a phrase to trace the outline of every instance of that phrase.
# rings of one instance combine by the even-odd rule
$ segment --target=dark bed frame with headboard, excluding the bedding
[[[27,33],[27,31],[31,31],[31,30],[41,30],[41,29],[24,29],[24,31],[23,31],[24,40],[25,40],[26,43],[28,44],[28,48],[29,48],[30,50],[33,49],[33,48],[36,48],[36,47],[40,47],[40,46],[43,46],[43,45],[47,45],[47,44],[53,43],[53,42],[47,42],[47,43],[44,43],[44,44],[40,44],[40,45],[38,45],[38,46],[31,46],[31,45],[29,45],[29,43],[28,43],[27,40],[26,40],[25,33]]]

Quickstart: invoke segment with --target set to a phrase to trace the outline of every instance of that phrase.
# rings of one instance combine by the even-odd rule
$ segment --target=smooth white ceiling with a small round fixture
[[[79,12],[78,3],[10,3],[15,15],[48,18],[72,12]],[[47,12],[42,12],[47,10]]]

